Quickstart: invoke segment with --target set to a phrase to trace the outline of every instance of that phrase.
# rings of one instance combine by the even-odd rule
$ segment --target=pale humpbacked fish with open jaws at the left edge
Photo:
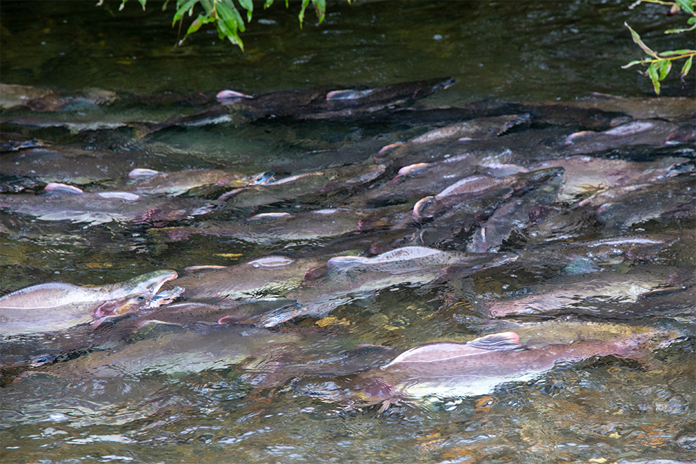
[[[66,282],[31,285],[0,298],[3,337],[47,333],[129,314],[148,305],[176,271],[145,273],[125,282],[83,287]]]

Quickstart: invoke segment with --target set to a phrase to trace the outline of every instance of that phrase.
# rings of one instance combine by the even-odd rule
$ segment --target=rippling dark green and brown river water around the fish
[[[259,95],[318,86],[338,90],[453,78],[456,84],[451,88],[413,103],[425,114],[450,106],[489,109],[502,102],[574,102],[592,93],[650,95],[647,77],[633,68],[620,68],[640,58],[624,21],[654,49],[687,46],[679,44],[683,37],[663,35],[665,29],[681,26],[663,14],[665,7],[644,4],[628,10],[626,1],[331,2],[323,24],[315,24],[308,10],[303,29],[296,19],[299,3],[290,2],[286,9],[276,2],[268,10],[256,6],[253,22],[242,34],[244,53],[206,30],[193,34],[182,47],[173,47],[177,42],[177,27],[170,22],[173,5],[162,13],[161,3],[155,2],[148,2],[144,12],[135,0],[122,11],[118,11],[119,2],[107,1],[100,7],[94,3],[3,1],[2,83],[68,95],[100,88],[119,95],[192,98],[224,89]],[[691,87],[683,89],[673,70],[665,80],[665,94],[693,99],[693,72],[691,77]],[[180,104],[171,103],[174,100],[162,100],[158,108],[171,115]],[[190,114],[195,106],[184,102],[182,111],[190,110]],[[143,114],[151,116],[152,108],[148,106]],[[84,160],[93,154],[92,159],[100,160],[97,170],[109,171],[112,179],[133,168],[223,168],[245,175],[274,170],[289,176],[366,162],[383,145],[442,125],[442,120],[432,124],[394,114],[345,120],[266,117],[166,127],[143,138],[137,138],[132,127],[71,132],[65,127],[5,123],[3,115],[2,131],[40,139],[56,150],[61,147],[70,159]],[[350,147],[355,148],[339,150]],[[350,159],[342,153],[349,153]],[[659,150],[641,145],[607,156],[653,161],[667,155],[686,157],[693,164],[693,141]],[[15,152],[2,154],[5,159],[14,156]],[[43,161],[37,159],[40,170]],[[419,161],[433,159],[413,159],[407,164]],[[68,163],[66,170],[70,169]],[[65,179],[86,190],[113,186],[111,180],[80,184],[70,182],[69,175]],[[693,182],[684,185],[694,187]],[[665,196],[672,193],[677,194],[670,191]],[[260,208],[230,207],[215,212],[214,218],[242,220],[260,212],[340,207],[348,200],[349,195],[338,193],[265,201]],[[187,218],[168,225],[196,221]],[[3,223],[2,294],[40,282],[104,285],[156,269],[183,274],[187,266],[230,266],[271,253],[328,257],[359,248],[350,241],[336,245],[332,239],[318,237],[269,243],[193,234],[182,241],[167,241],[143,226],[27,223],[21,215],[6,211]],[[581,222],[580,227],[586,229],[574,232],[569,241],[608,237],[596,221]],[[690,272],[695,264],[694,227],[692,212],[664,221],[636,221],[621,232],[676,234],[681,239],[677,244],[665,246],[647,260],[663,266],[660,269],[669,266]],[[539,230],[553,241],[553,234]],[[500,250],[523,250],[523,238],[523,234],[513,235]],[[324,246],[333,248],[323,252]],[[601,268],[625,273],[640,259],[620,261],[601,264]],[[29,369],[39,372],[34,376],[21,376],[26,367],[8,367],[0,389],[0,459],[7,463],[693,462],[696,356],[689,303],[674,312],[638,314],[621,321],[562,316],[555,321],[558,325],[548,326],[541,319],[492,321],[472,308],[472,289],[494,299],[519,296],[525,294],[526,286],[547,282],[557,274],[555,263],[533,270],[511,265],[445,283],[391,285],[336,306],[330,317],[299,318],[276,330],[305,337],[302,348],[315,360],[328,359],[329,351],[337,356],[358,343],[403,351],[429,342],[466,342],[514,328],[520,328],[523,344],[538,339],[547,344],[569,343],[588,321],[602,331],[598,337],[622,333],[626,327],[691,336],[640,360],[600,356],[553,369],[532,381],[506,383],[489,395],[429,397],[383,411],[378,406],[349,408],[306,394],[305,382],[321,387],[344,376],[326,374],[331,371],[330,360],[325,365],[319,362],[324,374],[307,375],[309,381],[298,371],[275,382],[230,367],[198,374],[116,378],[52,376],[51,369],[62,362]],[[70,335],[77,340],[74,346],[79,346],[80,337],[88,337],[84,334],[78,330]],[[344,348],[342,340],[352,344]],[[27,339],[26,346],[31,342]],[[12,360],[22,355],[16,340],[3,353]],[[376,367],[381,361],[365,362]]]

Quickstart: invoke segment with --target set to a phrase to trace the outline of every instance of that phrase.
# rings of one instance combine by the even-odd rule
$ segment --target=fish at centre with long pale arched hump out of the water
[[[335,307],[393,285],[424,285],[438,279],[461,278],[517,259],[512,253],[447,252],[404,246],[374,257],[339,256],[326,262],[283,296],[294,305],[262,314],[250,323],[274,327],[296,317],[324,317]]]

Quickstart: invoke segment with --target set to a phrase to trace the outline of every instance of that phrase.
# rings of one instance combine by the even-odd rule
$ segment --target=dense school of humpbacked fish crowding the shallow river
[[[38,375],[190,378],[236,369],[258,390],[292,385],[317,401],[383,413],[426,397],[492,394],[559,364],[644,360],[693,337],[650,323],[695,318],[693,99],[670,106],[662,98],[660,118],[618,97],[584,106],[411,106],[453,84],[221,90],[181,96],[179,112],[155,97],[2,84],[6,245],[93,250],[120,237],[120,246],[145,252],[182,243],[242,250],[227,265],[134,267],[99,285],[22,287],[6,276],[3,386]],[[214,164],[152,138],[271,120],[392,129],[266,166]],[[74,141],[51,140],[56,127]],[[88,147],[97,136],[82,135],[122,143],[124,131],[120,152]],[[167,170],[168,157],[189,163]],[[475,317],[520,330],[479,323],[467,339],[411,346],[352,335],[361,308],[400,289],[430,292],[452,327]],[[568,315],[576,319],[558,319]],[[624,330],[607,336],[606,321]],[[532,344],[525,323],[585,331]]]

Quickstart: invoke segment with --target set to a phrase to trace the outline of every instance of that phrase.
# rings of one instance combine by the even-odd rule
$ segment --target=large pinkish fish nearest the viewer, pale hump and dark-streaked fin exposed
[[[555,366],[600,356],[640,358],[658,331],[617,336],[608,340],[576,340],[528,348],[514,332],[494,333],[466,343],[439,342],[401,353],[378,369],[341,383],[341,390],[312,396],[342,401],[348,407],[381,403],[380,412],[401,401],[425,397],[474,397],[493,393],[500,385],[531,381]]]

